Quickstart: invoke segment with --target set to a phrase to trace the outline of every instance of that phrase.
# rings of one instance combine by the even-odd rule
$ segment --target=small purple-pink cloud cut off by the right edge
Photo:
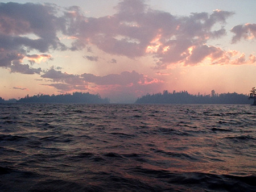
[[[243,39],[255,39],[256,38],[256,24],[246,23],[245,25],[234,26],[231,30],[235,35],[232,38],[232,43],[236,43]]]

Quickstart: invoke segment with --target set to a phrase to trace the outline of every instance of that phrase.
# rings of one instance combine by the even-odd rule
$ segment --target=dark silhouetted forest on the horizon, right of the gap
[[[135,103],[162,103],[162,104],[251,104],[248,95],[237,93],[216,94],[214,90],[210,95],[192,95],[187,91],[169,93],[147,94],[138,98]]]

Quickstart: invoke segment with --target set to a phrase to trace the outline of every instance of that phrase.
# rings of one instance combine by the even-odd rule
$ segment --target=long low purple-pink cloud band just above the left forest
[[[89,73],[74,75],[50,69],[41,77],[56,82],[42,85],[55,87],[61,93],[83,90],[100,93],[114,99],[117,99],[120,95],[122,95],[121,98],[127,98],[127,95],[130,95],[129,98],[134,99],[148,93],[153,88],[159,88],[163,83],[157,78],[148,77],[135,71],[95,76]]]

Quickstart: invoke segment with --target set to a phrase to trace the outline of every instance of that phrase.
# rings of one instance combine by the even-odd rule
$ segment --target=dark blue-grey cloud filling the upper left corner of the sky
[[[1,34],[8,35],[16,47],[25,46],[47,52],[49,48],[65,49],[56,33],[62,26],[63,19],[57,18],[57,8],[53,5],[34,3],[0,3]],[[34,34],[38,39],[29,39],[20,35]]]

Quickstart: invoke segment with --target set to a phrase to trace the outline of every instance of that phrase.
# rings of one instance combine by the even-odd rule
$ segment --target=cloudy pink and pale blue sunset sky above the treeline
[[[89,92],[133,103],[163,90],[256,86],[254,0],[0,3],[0,97]]]

